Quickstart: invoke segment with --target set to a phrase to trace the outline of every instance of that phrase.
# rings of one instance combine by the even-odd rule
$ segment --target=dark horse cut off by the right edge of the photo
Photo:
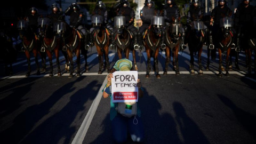
[[[245,49],[246,54],[246,66],[248,68],[248,74],[252,74],[252,51],[254,51],[254,75],[256,72],[256,59],[255,59],[255,52],[256,52],[256,36],[254,34],[256,30],[256,17],[253,19],[253,28],[250,31],[250,36],[247,39],[248,48]]]

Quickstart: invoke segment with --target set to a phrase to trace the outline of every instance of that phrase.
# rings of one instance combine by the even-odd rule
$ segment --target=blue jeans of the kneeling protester
[[[117,114],[113,121],[111,121],[113,129],[113,136],[116,143],[124,143],[127,141],[127,132],[130,133],[131,139],[134,142],[143,142],[144,130],[141,118],[136,116],[124,117],[121,114]]]

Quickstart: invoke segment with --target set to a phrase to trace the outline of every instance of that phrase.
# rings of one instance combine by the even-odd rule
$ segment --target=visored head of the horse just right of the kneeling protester
[[[162,16],[154,16],[151,19],[151,26],[153,26],[154,33],[161,34],[162,28],[164,26],[164,17],[162,17]]]

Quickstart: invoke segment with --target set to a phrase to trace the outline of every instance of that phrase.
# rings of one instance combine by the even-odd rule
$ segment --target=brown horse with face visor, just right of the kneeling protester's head
[[[161,47],[161,35],[162,28],[164,26],[164,17],[155,15],[151,19],[151,25],[146,29],[143,36],[143,44],[147,53],[147,71],[146,78],[149,78],[149,72],[151,70],[151,61],[150,58],[153,57],[154,65],[153,69],[156,73],[156,78],[161,78],[159,75],[158,69],[158,53],[159,48]]]

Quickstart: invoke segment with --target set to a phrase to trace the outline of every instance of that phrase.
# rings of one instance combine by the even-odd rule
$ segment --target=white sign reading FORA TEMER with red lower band
[[[138,101],[138,71],[115,71],[111,79],[113,102]]]

